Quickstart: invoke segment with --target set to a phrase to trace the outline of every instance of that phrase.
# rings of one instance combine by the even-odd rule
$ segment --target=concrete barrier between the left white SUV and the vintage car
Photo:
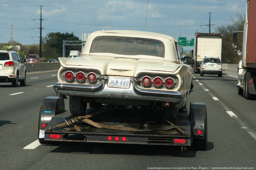
[[[26,67],[26,71],[45,71],[55,70],[61,67],[59,62],[34,62],[34,63],[23,63]]]

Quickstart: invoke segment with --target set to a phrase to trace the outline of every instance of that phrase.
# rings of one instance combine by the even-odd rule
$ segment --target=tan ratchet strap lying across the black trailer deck
[[[97,122],[94,122],[94,121],[88,119],[88,118],[90,118],[92,116],[95,116],[97,114],[103,113],[103,112],[108,111],[108,110],[110,110],[112,108],[114,108],[114,106],[101,109],[99,111],[96,111],[96,112],[91,113],[91,114],[87,114],[85,116],[74,117],[74,118],[72,118],[72,119],[70,119],[68,121],[65,120],[65,123],[61,123],[61,124],[55,125],[55,126],[49,128],[49,130],[51,130],[53,128],[58,128],[58,127],[61,127],[61,126],[74,125],[74,128],[76,129],[76,131],[77,132],[81,132],[80,127],[77,126],[76,123],[84,122],[84,123],[87,123],[87,124],[92,125],[92,126],[94,126],[96,128],[99,128],[99,129],[127,130],[127,131],[137,131],[137,132],[166,131],[166,130],[171,130],[171,129],[177,129],[182,134],[188,136],[187,132],[183,131],[178,126],[174,125],[173,123],[170,123],[168,120],[166,120],[160,114],[158,114],[156,111],[154,111],[154,112],[156,114],[158,114],[159,116],[161,116],[164,120],[166,120],[170,124],[169,126],[163,126],[163,127],[157,128],[157,129],[137,129],[137,128],[131,128],[131,127],[114,126],[114,125],[107,125],[107,124],[97,123]]]

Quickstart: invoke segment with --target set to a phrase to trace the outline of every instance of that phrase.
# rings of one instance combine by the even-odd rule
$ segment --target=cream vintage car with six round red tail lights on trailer
[[[167,35],[128,30],[91,33],[76,58],[59,58],[58,96],[69,98],[73,116],[101,104],[163,108],[177,119],[192,89],[194,60],[181,62],[177,41]],[[188,64],[188,65],[187,65]]]

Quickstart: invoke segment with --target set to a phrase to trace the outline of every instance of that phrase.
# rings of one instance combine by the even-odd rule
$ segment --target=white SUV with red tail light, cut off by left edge
[[[12,87],[26,85],[26,67],[16,51],[0,50],[0,82],[11,82]]]

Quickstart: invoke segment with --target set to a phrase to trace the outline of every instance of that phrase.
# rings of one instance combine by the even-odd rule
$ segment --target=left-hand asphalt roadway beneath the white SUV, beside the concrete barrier
[[[19,83],[18,87],[11,87],[11,83],[0,83],[0,90],[1,90],[0,98],[4,98],[15,93],[21,93],[21,92],[26,93],[31,90],[37,90],[40,88],[44,88],[46,86],[51,86],[54,83],[58,82],[56,74],[57,74],[56,71],[54,72],[47,71],[47,72],[35,73],[35,75],[33,76],[31,76],[32,74],[27,75],[26,86],[20,86],[20,83]],[[38,77],[38,78],[31,79],[33,77]]]

